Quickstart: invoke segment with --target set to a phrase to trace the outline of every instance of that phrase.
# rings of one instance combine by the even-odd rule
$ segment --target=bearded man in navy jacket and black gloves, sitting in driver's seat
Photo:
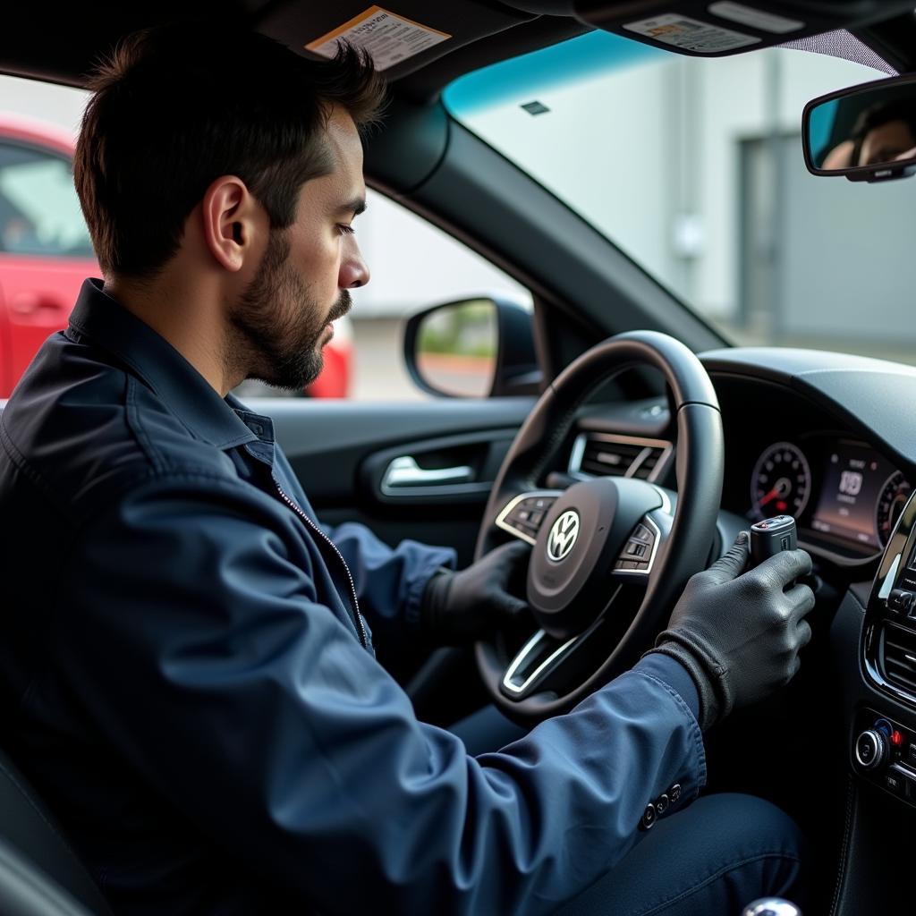
[[[518,613],[524,548],[443,573],[452,551],[322,529],[229,394],[313,378],[368,280],[371,66],[173,30],[93,89],[75,176],[104,283],[0,418],[0,705],[114,911],[671,916],[797,892],[784,815],[688,803],[702,729],[797,670],[813,598],[784,587],[807,556],[741,575],[736,543],[633,671],[469,757],[417,720],[367,621],[474,638]]]

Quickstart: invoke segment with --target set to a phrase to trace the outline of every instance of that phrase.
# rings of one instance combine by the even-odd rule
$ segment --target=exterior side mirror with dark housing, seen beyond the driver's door
[[[404,359],[418,387],[447,398],[540,390],[531,313],[503,296],[444,302],[412,315]]]

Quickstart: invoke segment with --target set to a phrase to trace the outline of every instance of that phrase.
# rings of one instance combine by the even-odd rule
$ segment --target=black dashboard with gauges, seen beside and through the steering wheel
[[[845,567],[876,562],[916,485],[916,421],[905,422],[900,407],[916,398],[916,370],[767,347],[701,358],[722,410],[722,508],[748,524],[792,515],[812,554]],[[668,444],[673,432],[663,399],[593,403],[578,424],[580,437],[628,434],[634,453]],[[571,471],[576,457],[573,449]],[[674,488],[674,461],[649,479]]]

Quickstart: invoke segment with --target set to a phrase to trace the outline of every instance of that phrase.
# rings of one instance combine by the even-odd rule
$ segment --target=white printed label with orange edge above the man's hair
[[[375,61],[376,70],[387,70],[395,64],[409,60],[421,51],[452,38],[445,32],[419,22],[389,13],[381,6],[370,6],[365,13],[354,16],[349,22],[335,28],[327,35],[316,38],[305,46],[306,50],[333,58],[339,41],[349,41],[356,48],[368,51]]]

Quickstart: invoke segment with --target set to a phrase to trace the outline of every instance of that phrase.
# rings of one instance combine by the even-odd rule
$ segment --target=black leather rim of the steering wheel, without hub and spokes
[[[718,399],[703,364],[684,344],[654,331],[611,337],[582,354],[541,395],[512,443],[487,501],[476,557],[496,546],[495,519],[509,500],[534,491],[573,427],[576,411],[610,378],[639,365],[660,371],[671,391],[677,421],[678,497],[646,594],[616,649],[597,671],[562,696],[549,692],[521,700],[500,689],[506,671],[496,640],[477,642],[477,668],[494,703],[516,721],[533,724],[571,709],[616,674],[631,667],[664,627],[671,606],[693,573],[702,570],[714,542],[725,464]],[[536,548],[537,549],[537,548]]]

